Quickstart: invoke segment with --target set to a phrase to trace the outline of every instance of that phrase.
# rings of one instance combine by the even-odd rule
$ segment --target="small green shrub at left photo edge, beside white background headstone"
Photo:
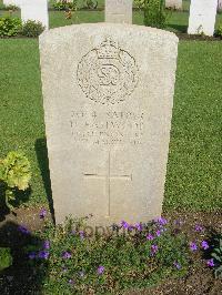
[[[13,37],[21,32],[22,24],[19,18],[0,18],[0,37]]]

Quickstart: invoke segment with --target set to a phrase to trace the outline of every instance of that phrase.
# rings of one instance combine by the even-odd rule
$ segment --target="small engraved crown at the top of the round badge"
[[[120,48],[117,42],[107,38],[97,49],[99,59],[119,59]]]

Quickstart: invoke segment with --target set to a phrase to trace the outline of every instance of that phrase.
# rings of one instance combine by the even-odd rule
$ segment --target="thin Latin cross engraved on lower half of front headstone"
[[[108,206],[108,216],[110,216],[110,206],[111,206],[111,180],[120,180],[120,181],[132,181],[132,174],[111,174],[111,154],[108,153],[108,160],[107,160],[107,173],[105,174],[97,174],[97,173],[83,173],[83,176],[85,179],[104,179],[105,181],[105,195],[109,200],[109,206]]]

